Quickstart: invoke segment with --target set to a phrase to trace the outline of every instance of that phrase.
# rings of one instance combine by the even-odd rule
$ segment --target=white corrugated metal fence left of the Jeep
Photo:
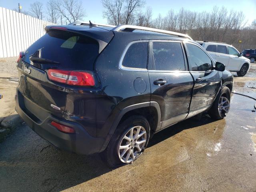
[[[55,24],[0,7],[0,58],[18,56],[45,34],[47,25]]]

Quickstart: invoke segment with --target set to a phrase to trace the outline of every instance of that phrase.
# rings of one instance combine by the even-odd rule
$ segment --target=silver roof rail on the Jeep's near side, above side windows
[[[112,31],[120,31],[120,30],[144,30],[144,31],[152,31],[152,32],[158,32],[158,33],[163,33],[163,34],[168,34],[168,35],[174,35],[178,37],[183,37],[183,38],[188,38],[190,40],[193,40],[190,36],[187,34],[182,34],[182,33],[177,33],[177,32],[172,32],[172,31],[167,31],[167,30],[161,30],[161,29],[155,29],[155,28],[149,28],[149,27],[142,27],[142,26],[134,26],[134,25],[118,25],[115,28],[112,29]]]

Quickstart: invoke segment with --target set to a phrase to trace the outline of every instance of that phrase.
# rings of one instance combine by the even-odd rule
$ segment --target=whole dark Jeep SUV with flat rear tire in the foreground
[[[232,74],[187,35],[84,22],[45,30],[18,58],[16,111],[57,148],[120,166],[170,125],[228,113]]]

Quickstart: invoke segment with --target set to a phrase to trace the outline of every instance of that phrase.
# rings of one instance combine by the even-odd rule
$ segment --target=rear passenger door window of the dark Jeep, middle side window
[[[156,70],[185,70],[180,42],[153,42],[153,56]]]

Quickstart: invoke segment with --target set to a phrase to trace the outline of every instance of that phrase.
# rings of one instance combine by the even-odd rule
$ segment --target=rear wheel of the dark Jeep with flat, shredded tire
[[[132,163],[143,153],[149,138],[148,120],[144,116],[130,116],[116,128],[102,159],[112,168]]]

